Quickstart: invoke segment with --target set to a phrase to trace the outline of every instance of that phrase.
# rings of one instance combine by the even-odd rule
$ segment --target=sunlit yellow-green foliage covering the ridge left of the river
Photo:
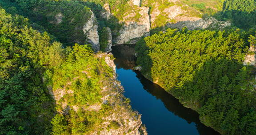
[[[44,75],[54,93],[64,93],[60,97],[55,94],[56,110],[64,115],[59,113],[52,119],[52,134],[91,135],[101,131],[100,126],[107,121],[102,118],[120,109],[121,104],[117,100],[119,106],[101,104],[101,98],[109,95],[109,91],[102,92],[102,87],[113,77],[113,69],[105,62],[107,54],[95,55],[88,45],[78,44],[62,50],[65,55],[61,56],[66,57]],[[98,109],[94,110],[93,105]],[[119,127],[118,123],[110,122],[108,128]]]

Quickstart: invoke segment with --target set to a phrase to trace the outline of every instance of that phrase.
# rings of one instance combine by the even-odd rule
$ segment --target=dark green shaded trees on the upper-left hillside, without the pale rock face
[[[65,45],[86,43],[83,26],[92,12],[84,4],[73,0],[16,0],[16,3],[32,22],[44,26]]]

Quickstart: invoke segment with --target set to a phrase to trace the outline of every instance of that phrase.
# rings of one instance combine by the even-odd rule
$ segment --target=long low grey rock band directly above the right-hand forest
[[[223,29],[225,27],[230,26],[231,24],[229,22],[224,21],[218,21],[213,17],[209,17],[206,19],[200,19],[196,21],[180,21],[176,24],[167,24],[168,28],[179,28],[182,29],[184,27],[187,27],[189,30],[194,29],[205,29],[205,28],[217,28],[217,29]]]

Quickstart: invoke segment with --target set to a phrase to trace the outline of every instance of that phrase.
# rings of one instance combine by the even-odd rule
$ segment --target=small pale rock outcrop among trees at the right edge
[[[255,47],[255,45],[250,46],[249,52],[251,52],[252,54],[247,54],[245,56],[245,60],[244,60],[243,65],[244,66],[247,66],[247,65],[256,66],[256,54],[255,54],[256,47]]]

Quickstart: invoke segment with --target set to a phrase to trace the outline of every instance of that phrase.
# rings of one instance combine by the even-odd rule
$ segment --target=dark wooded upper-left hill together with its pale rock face
[[[70,0],[36,0],[30,4],[29,8],[23,7],[29,12],[28,17],[44,26],[60,42],[67,46],[92,44],[94,51],[99,51],[98,22],[85,4]]]

